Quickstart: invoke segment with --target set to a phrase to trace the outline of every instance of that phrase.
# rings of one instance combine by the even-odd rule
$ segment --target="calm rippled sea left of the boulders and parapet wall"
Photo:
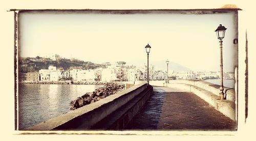
[[[73,84],[19,84],[19,129],[47,121],[70,111],[70,101],[102,87]]]

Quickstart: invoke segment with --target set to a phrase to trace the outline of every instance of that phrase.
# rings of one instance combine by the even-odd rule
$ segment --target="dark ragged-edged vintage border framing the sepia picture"
[[[237,29],[237,32],[236,32],[236,37],[237,38],[234,38],[233,40],[233,43],[234,43],[234,55],[236,56],[235,60],[234,60],[234,73],[236,74],[236,85],[235,85],[235,88],[234,89],[237,89],[236,91],[236,119],[238,119],[238,12],[239,12],[239,8],[221,8],[221,9],[187,9],[187,10],[172,10],[172,9],[160,9],[160,10],[88,10],[88,9],[85,9],[85,10],[51,10],[51,9],[45,9],[45,10],[16,10],[16,9],[12,9],[10,11],[13,11],[14,12],[14,29],[15,29],[15,46],[14,46],[14,49],[15,49],[15,54],[14,54],[14,69],[16,70],[15,71],[15,109],[18,110],[17,108],[17,97],[18,97],[18,93],[17,93],[17,88],[18,88],[18,50],[19,49],[22,49],[22,47],[19,47],[19,28],[18,28],[18,25],[19,25],[19,18],[18,18],[18,15],[20,13],[23,13],[23,12],[96,12],[96,13],[111,13],[111,14],[133,14],[133,13],[151,13],[151,12],[156,12],[156,13],[163,13],[163,12],[170,12],[170,13],[183,13],[183,14],[213,14],[213,13],[225,13],[225,12],[233,12],[234,13],[234,16],[236,17],[236,21],[234,23],[234,26],[235,28]],[[15,117],[17,118],[17,113],[18,111],[15,111]],[[17,119],[15,119],[15,130],[19,130],[17,128]],[[101,131],[100,131],[101,132]],[[100,133],[100,132],[96,132],[97,133]],[[102,131],[104,132],[104,131]],[[33,132],[31,132],[33,133]],[[93,131],[89,131],[89,133],[94,133]],[[144,132],[143,132],[144,133]],[[106,133],[108,134],[108,133]],[[119,134],[117,132],[117,134]],[[122,134],[122,133],[121,133]],[[140,134],[140,133],[139,133]],[[148,133],[148,134],[151,134],[151,133]],[[168,133],[167,133],[168,134]]]

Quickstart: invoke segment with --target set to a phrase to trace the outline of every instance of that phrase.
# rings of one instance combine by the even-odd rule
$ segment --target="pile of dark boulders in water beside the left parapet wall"
[[[99,101],[102,98],[116,94],[124,89],[125,86],[122,83],[105,83],[103,87],[96,89],[94,92],[86,93],[81,97],[77,97],[75,100],[72,100],[70,102],[70,109],[74,110],[84,105]]]

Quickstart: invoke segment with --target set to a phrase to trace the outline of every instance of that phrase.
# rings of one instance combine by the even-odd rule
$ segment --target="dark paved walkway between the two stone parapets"
[[[126,130],[236,130],[236,123],[191,92],[154,87]]]

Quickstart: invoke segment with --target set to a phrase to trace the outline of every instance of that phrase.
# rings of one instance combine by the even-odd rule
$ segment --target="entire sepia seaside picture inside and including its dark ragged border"
[[[239,10],[13,10],[15,129],[237,131]]]

